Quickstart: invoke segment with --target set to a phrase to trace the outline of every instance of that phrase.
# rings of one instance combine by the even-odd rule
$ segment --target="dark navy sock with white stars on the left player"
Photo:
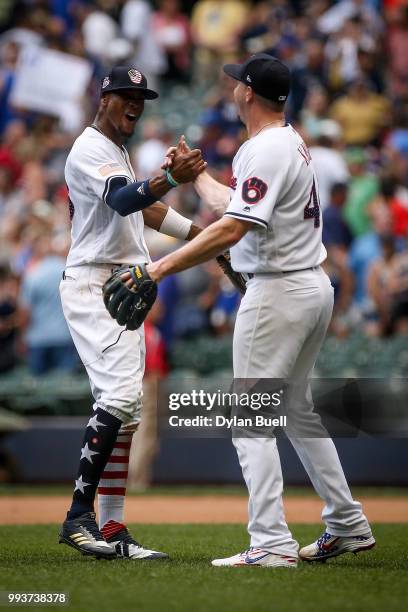
[[[85,512],[93,512],[96,489],[121,425],[120,419],[102,408],[97,408],[89,419],[67,519],[77,518]]]

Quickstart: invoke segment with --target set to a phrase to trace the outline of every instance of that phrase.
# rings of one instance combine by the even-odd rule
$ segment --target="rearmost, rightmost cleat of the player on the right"
[[[333,536],[327,531],[309,546],[304,546],[299,551],[299,557],[303,561],[326,561],[331,557],[338,557],[347,552],[355,554],[364,550],[370,550],[375,546],[375,539],[371,533],[360,536]]]

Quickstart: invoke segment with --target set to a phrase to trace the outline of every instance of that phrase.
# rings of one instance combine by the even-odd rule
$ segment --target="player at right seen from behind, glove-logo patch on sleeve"
[[[319,435],[288,434],[325,501],[326,531],[298,552],[285,521],[275,438],[233,437],[249,491],[250,547],[212,562],[296,567],[299,557],[325,560],[367,550],[375,540],[351,496],[333,441],[313,412],[307,384],[331,318],[333,288],[320,267],[326,251],[313,161],[299,134],[285,123],[290,73],[263,53],[244,64],[228,64],[224,71],[237,81],[235,102],[249,138],[234,158],[230,188],[206,172],[195,181],[201,198],[223,217],[143,273],[159,282],[231,247],[234,270],[248,277],[234,331],[234,378],[304,381],[301,420],[310,421]],[[173,154],[175,163],[179,153],[173,149],[170,160]],[[288,425],[290,418],[291,406]]]

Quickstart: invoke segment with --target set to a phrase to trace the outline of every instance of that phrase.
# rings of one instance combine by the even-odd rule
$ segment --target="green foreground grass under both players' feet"
[[[51,502],[52,503],[52,502]],[[375,525],[371,552],[297,570],[213,568],[247,545],[236,525],[138,525],[169,561],[97,561],[57,544],[57,525],[0,527],[0,590],[66,591],[75,612],[401,612],[408,603],[408,525]],[[301,544],[319,525],[292,525]],[[55,609],[55,608],[53,608]]]

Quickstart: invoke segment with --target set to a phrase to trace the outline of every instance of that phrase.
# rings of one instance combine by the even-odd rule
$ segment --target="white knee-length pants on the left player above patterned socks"
[[[116,267],[67,268],[60,294],[72,339],[89,376],[94,408],[101,407],[130,426],[140,421],[145,341],[142,326],[124,331],[115,344],[125,328],[107,312],[102,286]]]

